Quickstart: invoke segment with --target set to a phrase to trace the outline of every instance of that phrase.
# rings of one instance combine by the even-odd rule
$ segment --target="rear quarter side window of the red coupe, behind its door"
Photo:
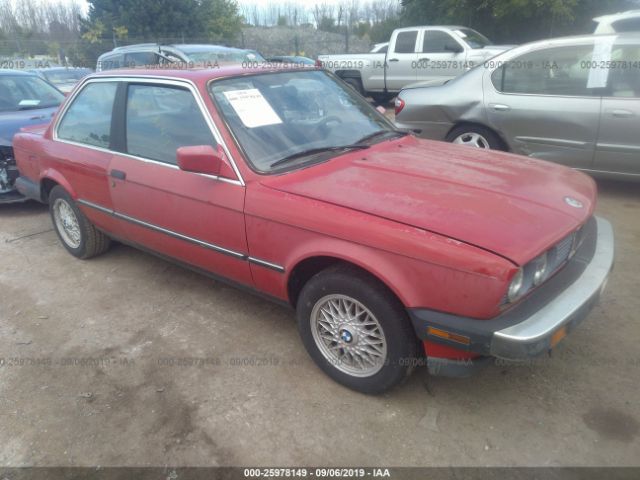
[[[58,138],[109,148],[116,82],[89,83],[73,100],[58,125]]]

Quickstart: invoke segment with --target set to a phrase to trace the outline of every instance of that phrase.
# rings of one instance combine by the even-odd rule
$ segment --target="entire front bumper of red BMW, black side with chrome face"
[[[508,360],[532,358],[551,350],[591,311],[613,268],[611,224],[594,217],[585,228],[585,240],[573,258],[519,304],[489,320],[410,309],[418,336]],[[432,335],[429,332],[433,329],[453,333],[458,340]]]

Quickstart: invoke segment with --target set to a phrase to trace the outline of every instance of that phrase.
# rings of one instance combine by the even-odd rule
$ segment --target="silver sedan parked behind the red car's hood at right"
[[[640,34],[530,43],[442,86],[403,90],[396,125],[593,175],[640,179]]]

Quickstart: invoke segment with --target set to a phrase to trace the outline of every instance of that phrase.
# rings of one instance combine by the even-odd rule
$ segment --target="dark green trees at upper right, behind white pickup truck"
[[[592,33],[591,19],[637,7],[632,0],[403,0],[404,25],[457,24],[501,43]]]

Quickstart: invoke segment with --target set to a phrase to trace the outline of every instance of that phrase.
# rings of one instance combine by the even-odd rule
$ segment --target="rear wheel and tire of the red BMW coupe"
[[[86,259],[109,250],[110,238],[85,217],[71,195],[59,185],[49,194],[49,213],[58,238],[74,257]]]

